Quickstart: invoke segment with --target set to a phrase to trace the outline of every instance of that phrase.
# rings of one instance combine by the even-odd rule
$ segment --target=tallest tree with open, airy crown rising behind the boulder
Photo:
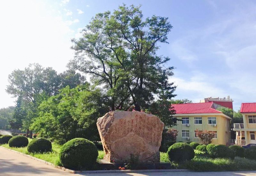
[[[133,5],[98,13],[82,37],[72,40],[76,55],[69,68],[101,85],[111,110],[146,109],[162,89],[175,89],[173,83],[163,84],[173,75],[173,67],[165,67],[170,58],[157,54],[159,43],[168,43],[171,29],[168,18],[144,18]]]

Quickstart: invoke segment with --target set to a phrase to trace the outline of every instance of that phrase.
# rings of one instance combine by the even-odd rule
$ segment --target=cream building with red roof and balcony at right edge
[[[256,103],[242,103],[240,113],[244,123],[234,123],[235,145],[244,148],[256,146]]]

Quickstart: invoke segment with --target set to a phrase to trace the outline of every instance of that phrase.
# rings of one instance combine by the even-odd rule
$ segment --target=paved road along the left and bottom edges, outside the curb
[[[255,168],[256,169],[256,168]],[[10,150],[0,148],[0,176],[256,176],[256,171],[243,172],[149,172],[72,174]]]

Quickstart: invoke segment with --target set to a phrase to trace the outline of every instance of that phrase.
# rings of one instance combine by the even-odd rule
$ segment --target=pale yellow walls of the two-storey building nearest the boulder
[[[174,116],[175,117],[175,116]],[[186,127],[185,124],[182,124],[181,121],[177,121],[177,126],[173,126],[173,129],[178,130],[178,136],[176,141],[192,141],[192,142],[199,142],[198,137],[195,137],[195,130],[210,130],[210,131],[217,131],[217,138],[212,139],[213,144],[223,144],[226,145],[231,138],[230,134],[230,120],[221,116],[178,116],[177,119],[181,119],[182,117],[189,117],[189,127]],[[194,124],[194,117],[202,117],[202,124]],[[216,117],[216,124],[217,127],[212,127],[212,124],[208,124],[208,117]],[[186,137],[182,137],[182,130],[189,130],[189,140]]]

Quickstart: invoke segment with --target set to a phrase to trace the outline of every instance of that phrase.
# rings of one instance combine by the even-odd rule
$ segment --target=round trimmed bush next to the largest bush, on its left
[[[43,153],[49,151],[52,151],[52,143],[44,137],[33,139],[30,143],[28,143],[29,153]]]

